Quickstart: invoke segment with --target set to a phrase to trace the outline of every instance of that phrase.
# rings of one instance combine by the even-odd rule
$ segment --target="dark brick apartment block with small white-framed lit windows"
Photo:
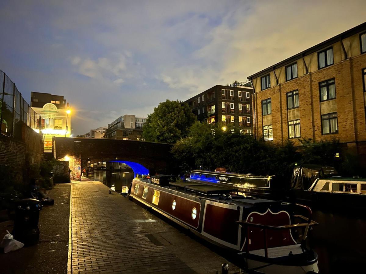
[[[186,100],[199,121],[227,123],[252,132],[253,88],[236,85],[215,85]]]

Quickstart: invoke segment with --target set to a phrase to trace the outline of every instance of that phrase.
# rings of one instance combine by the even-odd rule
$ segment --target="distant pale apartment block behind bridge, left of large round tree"
[[[145,117],[139,118],[135,115],[122,115],[108,124],[104,138],[141,141],[142,127],[145,124]]]

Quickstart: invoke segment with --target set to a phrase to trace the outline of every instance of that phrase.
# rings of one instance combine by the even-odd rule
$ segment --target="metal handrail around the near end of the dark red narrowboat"
[[[295,228],[295,227],[306,227],[305,228],[305,232],[302,238],[302,243],[304,243],[306,237],[307,237],[307,232],[309,231],[309,227],[311,225],[317,225],[318,223],[311,220],[311,209],[309,208],[309,206],[306,205],[301,205],[299,203],[295,203],[295,205],[306,208],[308,213],[309,213],[309,217],[305,217],[302,215],[294,215],[294,217],[298,217],[298,218],[302,218],[303,220],[305,220],[305,223],[301,223],[301,224],[292,224],[292,225],[264,225],[264,224],[258,224],[258,223],[254,223],[254,222],[248,222],[245,220],[240,220],[240,221],[236,221],[238,224],[240,225],[245,225],[246,227],[246,236],[247,239],[249,239],[249,229],[248,227],[252,226],[252,227],[260,227],[263,229],[263,236],[264,236],[264,256],[265,258],[268,258],[268,244],[267,244],[267,229],[290,229],[290,228]],[[249,254],[249,244],[247,243],[246,245],[246,254]]]

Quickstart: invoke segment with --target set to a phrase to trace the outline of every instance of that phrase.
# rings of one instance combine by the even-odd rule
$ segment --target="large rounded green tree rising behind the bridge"
[[[142,138],[150,142],[175,143],[187,137],[189,127],[196,121],[187,103],[166,100],[147,115]]]

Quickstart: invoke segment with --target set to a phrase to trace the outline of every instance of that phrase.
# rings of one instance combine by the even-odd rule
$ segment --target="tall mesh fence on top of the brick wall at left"
[[[0,70],[1,133],[13,137],[15,125],[20,121],[32,129],[38,129],[40,118],[24,100],[14,82]]]

